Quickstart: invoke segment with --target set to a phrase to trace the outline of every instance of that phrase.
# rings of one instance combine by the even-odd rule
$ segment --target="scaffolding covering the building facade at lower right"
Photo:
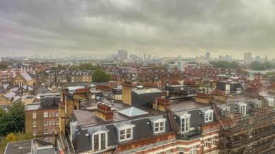
[[[262,100],[261,107],[243,116],[229,113],[221,116],[218,105],[212,103],[221,125],[221,154],[258,154],[275,151],[275,110]]]

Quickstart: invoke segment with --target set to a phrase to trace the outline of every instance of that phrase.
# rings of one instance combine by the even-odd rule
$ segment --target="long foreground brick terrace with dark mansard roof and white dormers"
[[[155,98],[159,91],[154,88],[132,88],[132,105],[107,99],[86,100],[85,107],[80,103],[81,110],[73,110],[66,123],[67,148],[72,153],[125,154],[274,151],[273,93],[243,94],[234,86],[227,94],[197,94],[194,99],[190,88],[170,87],[184,88],[174,90],[172,99],[165,92]],[[146,99],[150,95],[155,99]]]

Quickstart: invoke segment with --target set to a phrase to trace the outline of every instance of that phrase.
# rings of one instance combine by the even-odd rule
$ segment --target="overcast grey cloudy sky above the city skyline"
[[[0,57],[275,57],[275,0],[1,0]]]

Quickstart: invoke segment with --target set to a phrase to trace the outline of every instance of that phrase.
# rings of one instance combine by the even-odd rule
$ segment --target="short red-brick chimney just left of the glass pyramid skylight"
[[[104,121],[113,120],[113,111],[109,105],[98,103],[96,116]]]

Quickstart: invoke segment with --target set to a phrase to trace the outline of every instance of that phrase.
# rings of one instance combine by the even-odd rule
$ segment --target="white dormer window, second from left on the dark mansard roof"
[[[118,127],[118,140],[120,142],[133,139],[133,127],[135,127],[135,125],[122,124],[122,125],[118,125],[117,127]]]

